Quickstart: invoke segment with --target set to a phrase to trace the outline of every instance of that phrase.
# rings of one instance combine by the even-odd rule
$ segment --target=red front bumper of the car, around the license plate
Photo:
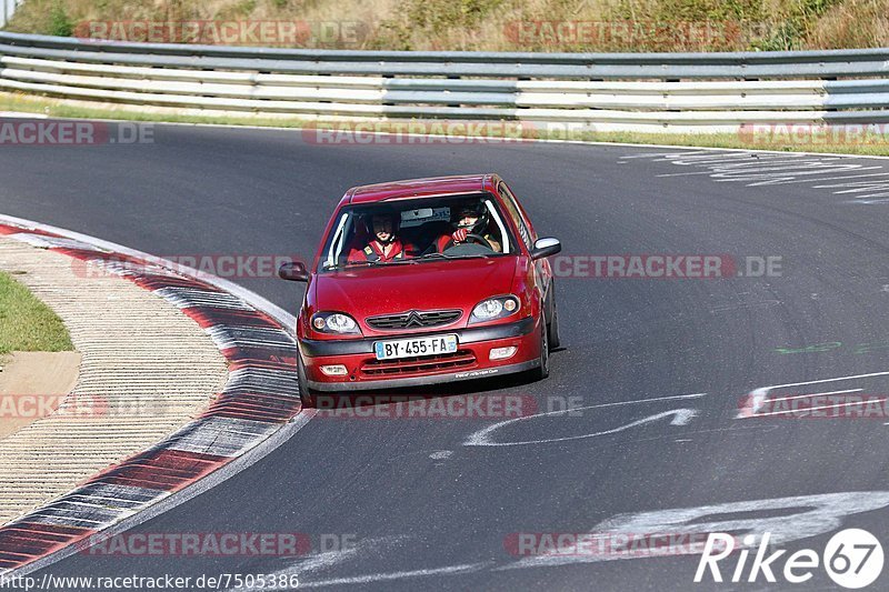
[[[537,330],[536,330],[537,329]],[[373,343],[381,339],[404,339],[456,334],[458,353],[452,358],[429,357],[397,363],[378,362]],[[397,389],[511,374],[540,365],[540,325],[529,317],[509,324],[476,329],[393,334],[359,340],[300,340],[300,354],[306,367],[308,387],[322,392]],[[505,360],[490,360],[492,348],[517,348]],[[348,374],[329,377],[322,365],[342,364]]]

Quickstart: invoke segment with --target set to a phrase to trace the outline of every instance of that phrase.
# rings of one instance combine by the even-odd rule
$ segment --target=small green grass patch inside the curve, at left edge
[[[0,355],[73,349],[61,319],[11,274],[0,271]]]

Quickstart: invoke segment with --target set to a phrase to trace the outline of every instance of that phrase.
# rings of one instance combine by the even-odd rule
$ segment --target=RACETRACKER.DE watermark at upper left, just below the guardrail
[[[152,123],[0,119],[0,147],[151,143],[154,143]]]

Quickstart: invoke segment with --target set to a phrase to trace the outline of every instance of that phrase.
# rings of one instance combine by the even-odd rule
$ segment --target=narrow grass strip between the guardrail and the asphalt
[[[38,113],[52,118],[126,120],[157,123],[194,123],[194,124],[223,124],[223,126],[252,126],[270,128],[332,128],[349,129],[348,122],[318,122],[299,117],[262,117],[251,114],[188,114],[174,112],[152,112],[117,108],[114,106],[96,104],[84,106],[72,103],[64,99],[36,97],[21,93],[0,92],[0,112],[12,111],[20,113]],[[496,122],[492,122],[496,123]],[[517,124],[517,122],[512,122]],[[495,126],[486,129],[490,131]],[[374,122],[376,131],[404,132],[410,126],[404,121]],[[447,126],[424,126],[426,133],[437,136],[438,129],[448,130]],[[453,129],[465,130],[465,127]],[[515,130],[515,126],[512,127]],[[885,132],[881,130],[880,133]],[[533,136],[540,140],[570,140],[582,142],[612,142],[629,144],[661,144],[686,148],[735,148],[742,150],[776,150],[782,152],[827,152],[851,155],[889,155],[889,137],[875,133],[868,136],[850,137],[849,141],[812,141],[795,143],[789,136],[775,134],[765,141],[751,140],[749,134],[741,133],[648,133],[648,132],[588,132],[588,131],[539,131]],[[447,131],[443,134],[448,134]],[[461,133],[455,133],[459,136]],[[486,138],[496,137],[488,133]],[[527,138],[527,136],[522,136]],[[404,142],[408,143],[408,142]],[[414,142],[422,143],[422,142]],[[459,143],[459,142],[456,142]]]

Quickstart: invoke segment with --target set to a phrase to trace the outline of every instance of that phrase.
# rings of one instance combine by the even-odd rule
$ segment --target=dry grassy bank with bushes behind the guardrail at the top
[[[327,49],[740,51],[889,44],[886,0],[24,0],[8,29]],[[238,31],[239,23],[299,23]],[[146,27],[150,22],[152,27]],[[167,27],[187,22],[188,27]],[[213,23],[223,26],[220,31]],[[231,26],[234,26],[230,28]],[[268,31],[268,32],[266,32]]]

